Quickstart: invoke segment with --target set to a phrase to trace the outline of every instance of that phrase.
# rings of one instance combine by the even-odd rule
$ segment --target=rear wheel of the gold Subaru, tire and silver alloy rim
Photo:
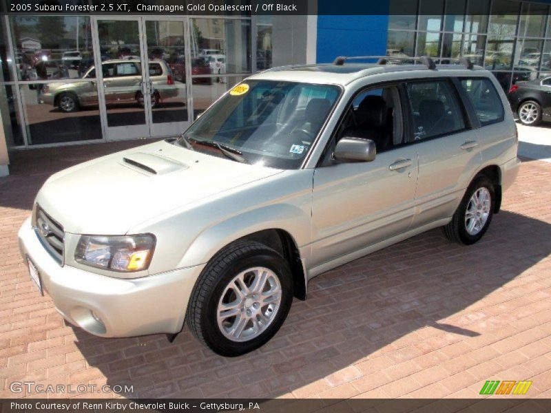
[[[485,175],[479,175],[469,185],[461,204],[452,220],[443,227],[444,235],[459,244],[474,244],[488,230],[495,205],[493,182]]]

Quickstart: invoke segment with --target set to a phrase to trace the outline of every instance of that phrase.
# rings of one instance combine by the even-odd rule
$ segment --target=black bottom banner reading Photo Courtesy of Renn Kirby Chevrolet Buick
[[[308,413],[308,412],[549,412],[551,399],[17,399],[0,401],[1,413]]]

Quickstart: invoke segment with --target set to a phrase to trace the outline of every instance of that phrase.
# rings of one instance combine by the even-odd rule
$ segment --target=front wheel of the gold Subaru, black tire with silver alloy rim
[[[259,242],[240,241],[203,269],[186,313],[191,332],[227,357],[267,343],[287,318],[293,280],[286,260]]]

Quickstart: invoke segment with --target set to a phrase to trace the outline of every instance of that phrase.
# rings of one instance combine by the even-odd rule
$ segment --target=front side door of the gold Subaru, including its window
[[[324,160],[324,165],[315,169],[312,267],[362,251],[410,228],[417,147],[403,145],[403,113],[397,85],[372,87],[353,99],[330,145],[342,137],[371,139],[377,156],[371,162]]]

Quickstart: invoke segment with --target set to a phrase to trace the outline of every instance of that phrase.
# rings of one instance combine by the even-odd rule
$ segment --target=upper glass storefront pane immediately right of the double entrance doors
[[[251,21],[191,19],[191,58],[207,59],[211,74],[251,72]],[[222,59],[214,67],[210,57]],[[193,67],[192,67],[193,69]]]

